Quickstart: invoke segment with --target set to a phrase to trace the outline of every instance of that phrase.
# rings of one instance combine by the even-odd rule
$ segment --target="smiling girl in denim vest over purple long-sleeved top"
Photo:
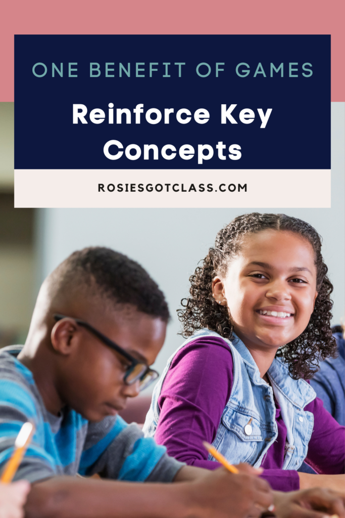
[[[190,278],[188,338],[156,385],[145,434],[193,466],[218,467],[206,440],[233,464],[263,467],[274,489],[343,491],[344,427],[307,381],[335,354],[326,274],[302,220],[251,213],[224,227]],[[304,459],[320,474],[298,473]]]

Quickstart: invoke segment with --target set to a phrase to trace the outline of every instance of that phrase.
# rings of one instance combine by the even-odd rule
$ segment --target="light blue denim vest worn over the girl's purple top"
[[[177,351],[203,336],[222,338],[218,333],[202,329],[189,337]],[[316,393],[306,381],[292,379],[286,363],[279,358],[275,358],[268,369],[272,386],[268,385],[260,378],[259,369],[242,340],[236,335],[231,341],[223,340],[232,352],[234,376],[231,396],[224,408],[213,446],[232,464],[247,462],[259,467],[278,436],[275,396],[287,428],[282,469],[298,469],[307,456],[314,423],[313,414],[303,409],[316,397]],[[143,428],[146,437],[155,435],[159,420],[159,394],[177,351],[169,358],[155,387]],[[209,454],[208,460],[215,461],[215,458]]]

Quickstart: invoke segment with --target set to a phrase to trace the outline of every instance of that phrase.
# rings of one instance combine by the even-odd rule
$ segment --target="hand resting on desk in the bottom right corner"
[[[274,513],[278,518],[344,518],[344,495],[324,487],[291,493],[274,492]]]

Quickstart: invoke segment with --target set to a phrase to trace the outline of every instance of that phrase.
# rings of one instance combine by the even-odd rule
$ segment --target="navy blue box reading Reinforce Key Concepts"
[[[46,68],[36,65],[35,76],[37,63]],[[90,77],[90,63],[94,63],[94,77]],[[114,63],[108,65],[108,75],[114,77],[106,77],[106,63]],[[123,69],[119,77],[119,63],[127,72],[130,63],[130,77]],[[198,75],[200,63],[207,65],[199,66]],[[242,76],[236,73],[240,63],[246,64],[237,68]],[[276,69],[283,63],[283,77],[281,69],[274,68],[271,77],[271,63]],[[14,100],[16,169],[331,167],[331,38],[327,35],[17,35]],[[110,103],[113,124],[108,122]],[[87,124],[80,120],[73,124],[73,104],[87,107]],[[140,124],[134,122],[133,113],[138,104],[144,105]],[[231,112],[237,124],[228,119],[221,124],[222,104],[237,105]],[[100,124],[89,119],[96,108],[106,114]],[[125,123],[125,115],[122,124],[116,124],[117,108],[130,110],[131,124]],[[146,121],[145,113],[151,108],[162,113],[160,123]],[[169,124],[164,124],[165,108],[174,109]],[[191,112],[187,124],[176,120],[182,108]],[[200,108],[209,112],[205,124],[193,118]],[[249,124],[239,120],[246,108],[255,114]],[[268,108],[272,113],[261,128],[258,109],[266,113]],[[141,156],[129,160],[124,152],[118,160],[109,160],[103,152],[109,140],[121,142],[123,151],[136,144]],[[218,156],[218,142],[226,146],[225,160]],[[153,160],[153,151],[144,160],[145,144],[158,147],[158,160]],[[161,155],[168,144],[176,148],[173,160]],[[198,164],[198,145],[206,144],[214,155]],[[190,160],[178,153],[183,145],[196,151]],[[229,159],[231,145],[241,148],[241,159]],[[115,146],[109,148],[112,154],[117,151]]]

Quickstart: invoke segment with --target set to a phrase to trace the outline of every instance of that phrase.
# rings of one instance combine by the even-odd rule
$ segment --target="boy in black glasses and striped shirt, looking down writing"
[[[156,378],[168,319],[145,270],[106,248],[74,252],[43,282],[25,346],[0,354],[1,466],[22,423],[36,426],[17,472],[32,482],[26,516],[244,518],[272,504],[258,471],[185,466],[116,417]],[[66,477],[77,473],[112,480]],[[343,514],[333,500],[325,509]]]

